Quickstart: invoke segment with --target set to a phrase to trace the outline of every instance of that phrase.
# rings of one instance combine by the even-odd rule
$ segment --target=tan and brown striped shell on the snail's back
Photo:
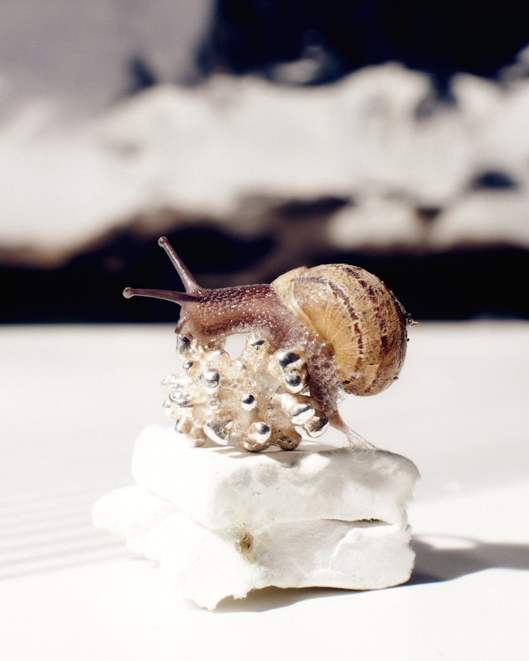
[[[272,282],[284,305],[329,344],[346,393],[376,395],[401,371],[407,317],[384,282],[363,268],[296,268]]]

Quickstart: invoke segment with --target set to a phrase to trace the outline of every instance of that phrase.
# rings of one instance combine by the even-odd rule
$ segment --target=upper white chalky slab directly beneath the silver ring
[[[380,519],[405,524],[419,472],[384,450],[341,447],[251,454],[232,447],[189,447],[172,428],[143,430],[132,459],[138,485],[211,529],[234,521]]]

